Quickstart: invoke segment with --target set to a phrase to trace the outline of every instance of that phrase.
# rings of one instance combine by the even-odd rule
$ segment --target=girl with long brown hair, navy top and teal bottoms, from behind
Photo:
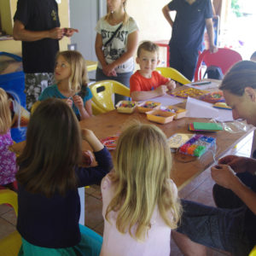
[[[101,182],[112,160],[94,133],[83,129],[98,165],[78,167],[80,133],[73,111],[59,99],[45,100],[32,114],[17,158],[19,255],[99,255],[101,236],[79,226],[78,188]]]

